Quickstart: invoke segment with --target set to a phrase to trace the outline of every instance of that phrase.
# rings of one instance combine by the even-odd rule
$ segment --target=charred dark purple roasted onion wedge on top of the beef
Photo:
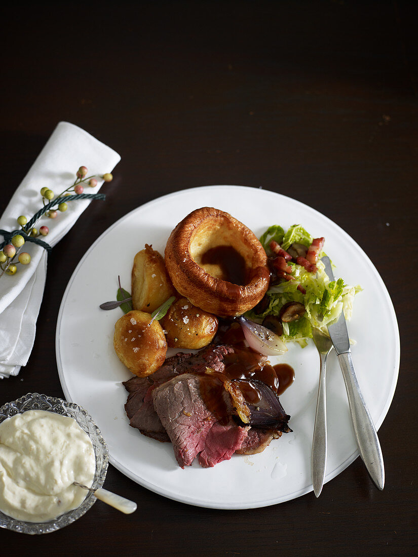
[[[250,425],[256,427],[269,427],[283,433],[292,430],[288,426],[290,416],[286,414],[280,403],[278,395],[259,379],[251,379],[252,385],[259,391],[261,397],[256,405],[248,404],[250,409]]]

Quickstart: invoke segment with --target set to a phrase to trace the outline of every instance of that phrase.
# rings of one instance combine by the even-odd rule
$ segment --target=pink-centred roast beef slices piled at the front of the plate
[[[287,426],[289,416],[274,393],[264,393],[265,389],[271,390],[264,384],[261,390],[267,407],[265,404],[249,406],[252,427],[242,427],[235,422],[236,411],[230,395],[216,376],[220,377],[227,366],[240,360],[240,350],[239,346],[213,344],[197,354],[178,353],[167,358],[149,377],[132,377],[124,382],[129,392],[125,410],[130,426],[158,441],[171,441],[182,468],[191,465],[195,458],[201,466],[212,467],[229,460],[234,452],[251,455],[263,451],[273,437],[281,435],[278,429],[291,431]],[[246,354],[246,364],[251,363],[250,360]],[[207,368],[219,373],[207,375]],[[207,392],[208,382],[216,380],[218,391],[213,399],[222,406],[222,417],[213,403],[208,408],[207,397],[201,390],[202,385],[206,385],[203,392]],[[264,423],[266,418],[271,423]]]

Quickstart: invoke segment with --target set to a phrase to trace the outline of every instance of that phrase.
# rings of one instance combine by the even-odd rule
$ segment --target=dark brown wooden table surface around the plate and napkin
[[[209,510],[110,466],[106,486],[137,501],[135,514],[98,503],[53,534],[3,530],[2,555],[418,555],[414,3],[65,6],[9,3],[3,12],[0,210],[60,120],[121,162],[105,203],[91,204],[48,258],[35,346],[18,377],[0,382],[0,404],[63,395],[57,314],[91,242],[145,202],[208,184],[285,194],[350,234],[390,292],[401,368],[379,431],[382,492],[358,458],[318,500],[311,492],[264,509]]]

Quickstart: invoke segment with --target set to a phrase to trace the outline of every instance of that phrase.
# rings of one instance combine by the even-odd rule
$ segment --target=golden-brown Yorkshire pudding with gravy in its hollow
[[[257,237],[229,213],[202,207],[188,214],[167,241],[174,288],[215,315],[241,315],[269,286],[267,256]]]

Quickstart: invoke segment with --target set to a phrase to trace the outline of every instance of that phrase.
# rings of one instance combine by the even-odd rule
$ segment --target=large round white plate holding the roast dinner
[[[182,470],[170,443],[144,437],[129,426],[124,411],[127,392],[121,382],[132,374],[113,349],[114,323],[121,312],[99,309],[102,302],[115,299],[118,275],[121,285],[130,290],[133,257],[145,243],[163,253],[174,226],[193,209],[205,206],[231,213],[257,236],[271,224],[288,228],[301,223],[314,237],[325,237],[336,275],[363,287],[348,329],[357,342],[352,355],[358,382],[376,427],[381,426],[395,392],[400,343],[392,302],[375,267],[346,232],[314,209],[273,192],[240,186],[194,188],[155,199],[121,218],[90,247],[71,277],[58,317],[61,385],[67,400],[86,408],[98,424],[110,462],[140,485],[177,501],[216,509],[273,505],[312,490],[310,452],[319,378],[314,346],[293,346],[280,360],[295,370],[294,384],[280,397],[291,415],[293,433],[283,434],[259,455],[234,455],[214,468],[194,464]],[[271,361],[276,363],[275,358]],[[358,456],[334,354],[328,366],[325,481]]]

